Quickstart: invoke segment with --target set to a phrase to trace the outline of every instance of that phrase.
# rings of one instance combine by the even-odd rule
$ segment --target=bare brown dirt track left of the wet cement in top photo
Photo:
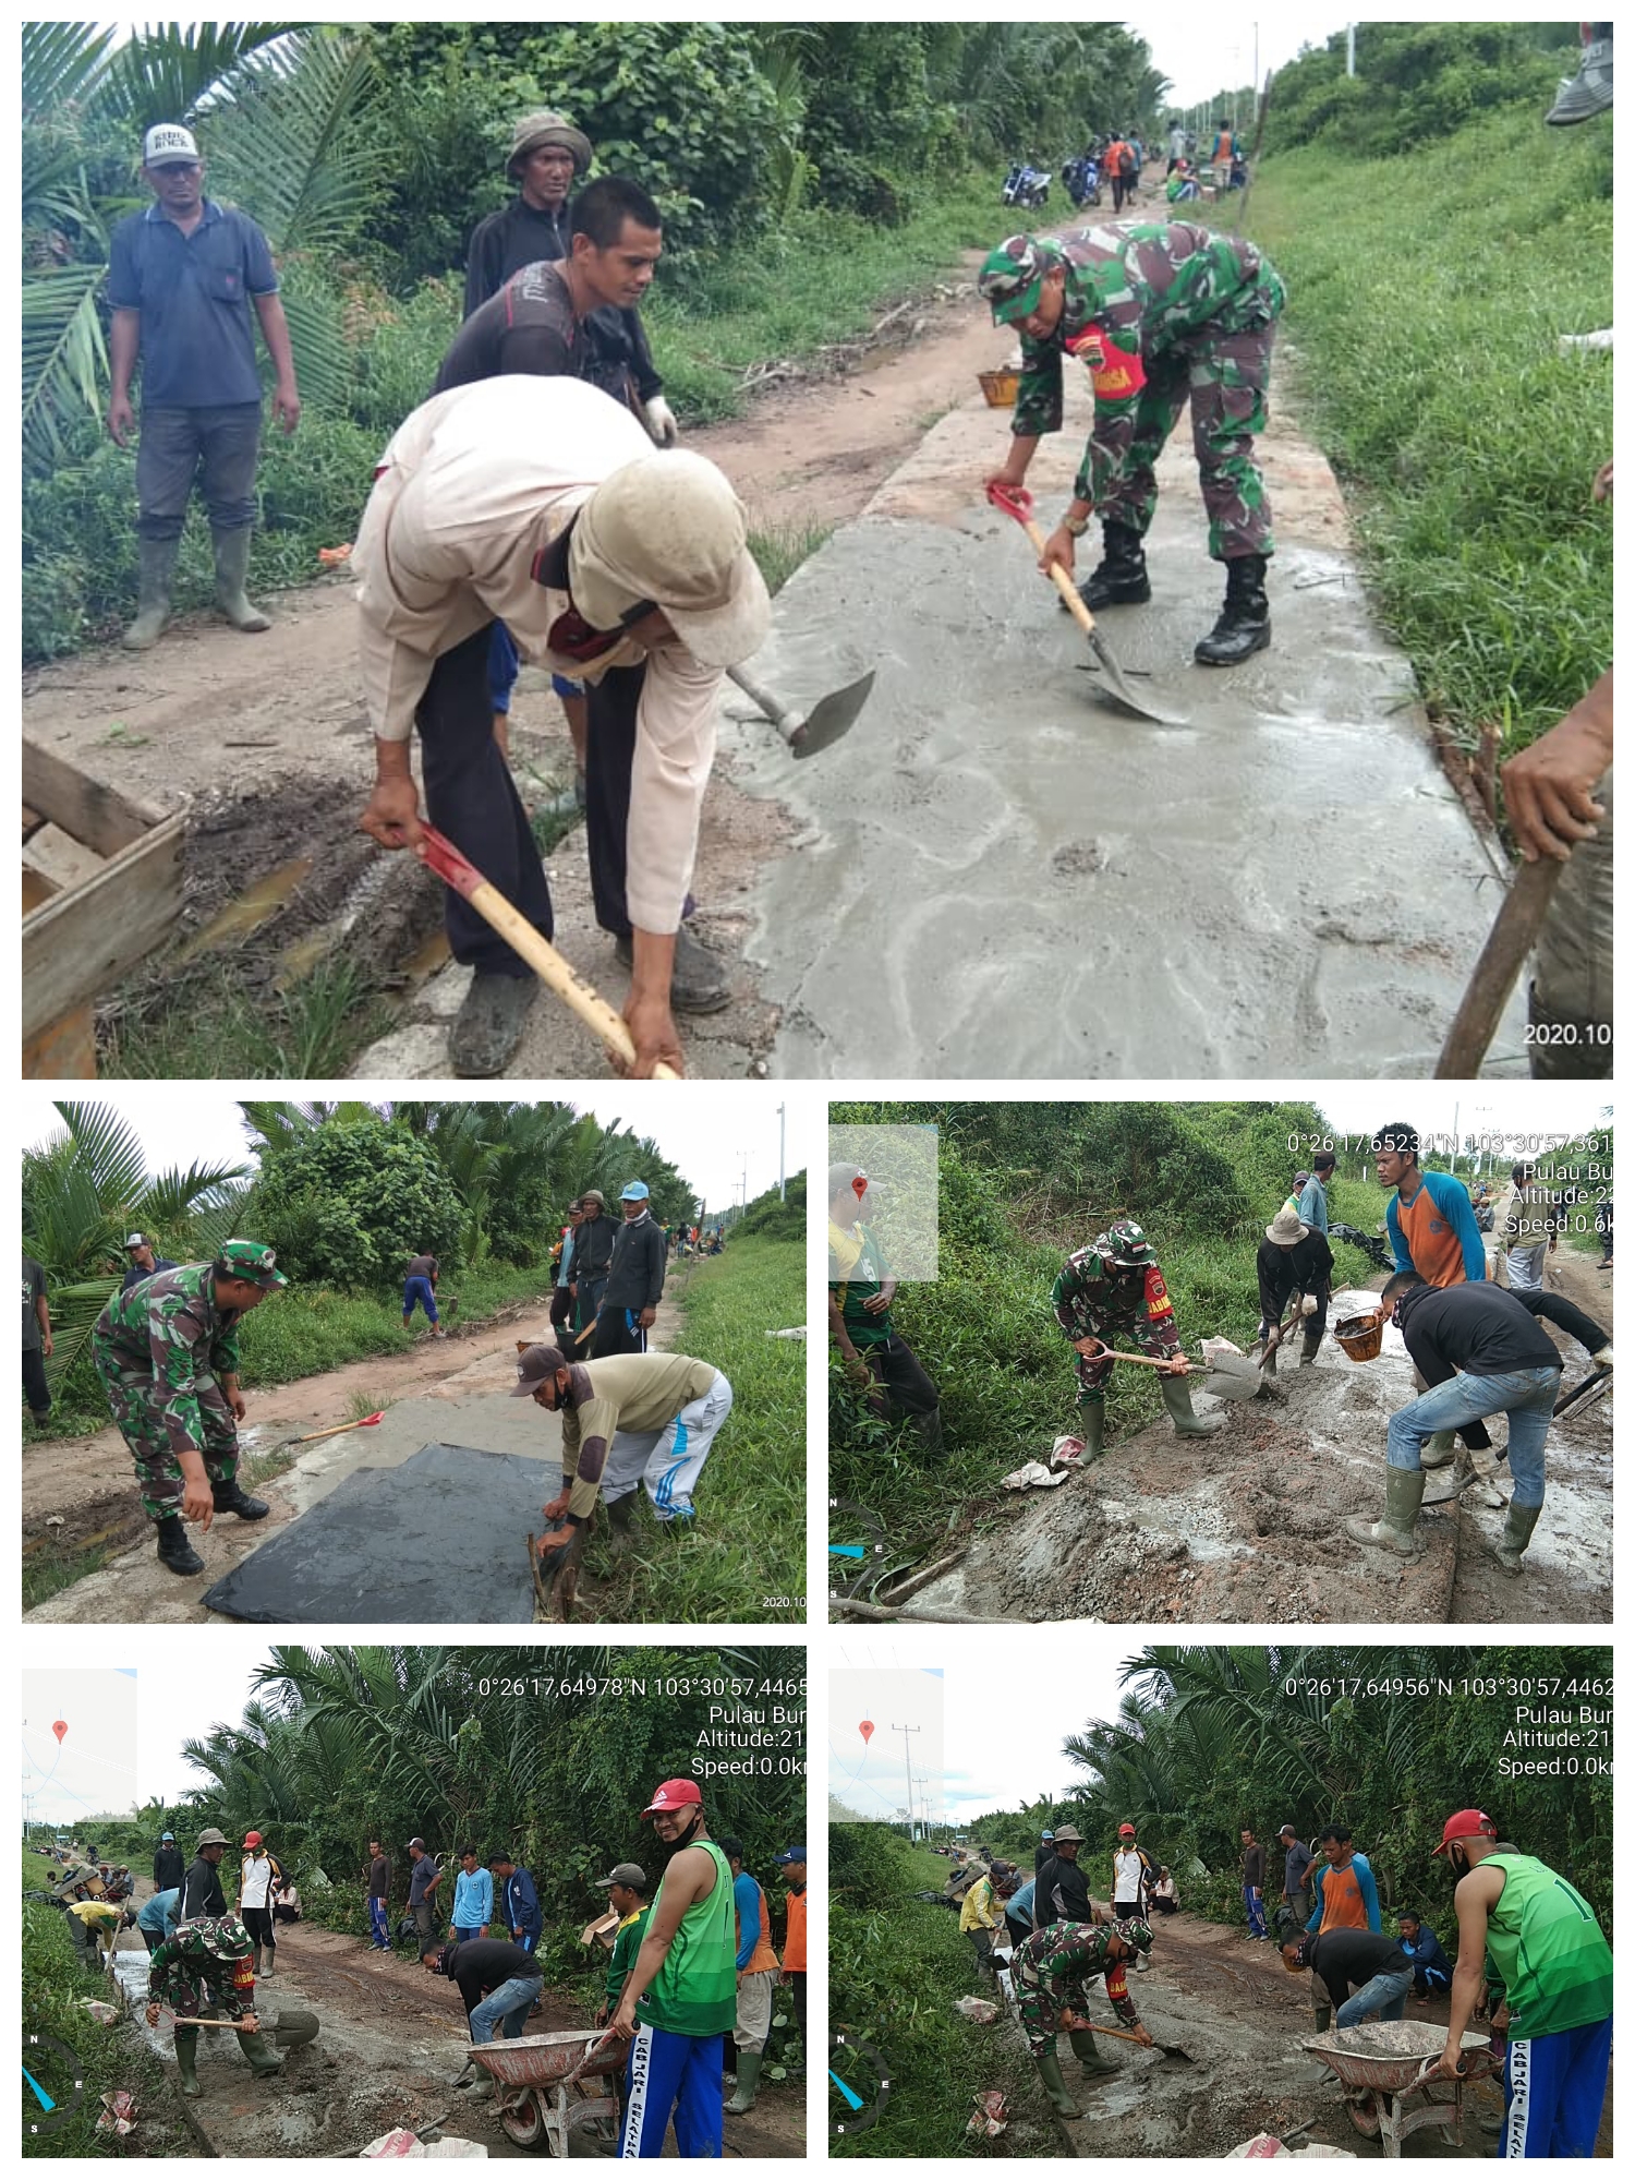
[[[974,373],[1009,347],[968,288],[929,299],[894,331],[900,344],[868,353],[846,377],[774,386],[743,419],[687,434],[689,447],[728,471],[754,528],[804,534],[855,517],[924,429],[970,397]],[[268,922],[240,959],[242,974],[255,983],[312,966],[323,940],[344,931],[355,959],[395,977],[401,1003],[399,1033],[360,1073],[443,1075],[445,1022],[460,990],[460,972],[436,974],[447,964],[443,889],[355,831],[373,759],[351,584],[325,580],[270,608],[277,619],[262,637],[194,617],[144,656],[100,647],[33,669],[24,732],[98,780],[192,811],[183,933],[270,879]],[[787,691],[791,700],[815,693]],[[765,726],[741,732],[754,746],[770,737]],[[523,671],[517,691],[512,752],[530,802],[571,780],[567,726],[536,669]],[[728,732],[704,800],[693,892],[706,935],[737,955],[750,885],[785,852],[791,826],[776,798],[735,789],[732,765]],[[582,831],[556,848],[549,868],[558,946],[617,1003],[626,977],[613,942],[595,931]],[[689,1031],[693,1073],[750,1073],[774,1029],[774,1009],[741,970],[732,1005]],[[608,1066],[571,1016],[541,1003],[510,1073],[604,1077]]]

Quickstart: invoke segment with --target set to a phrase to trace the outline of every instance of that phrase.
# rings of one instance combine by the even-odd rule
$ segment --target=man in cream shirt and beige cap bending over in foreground
[[[425,802],[477,870],[545,935],[545,868],[493,739],[488,628],[523,658],[597,680],[645,661],[630,778],[626,894],[632,1073],[680,1068],[669,1005],[676,931],[715,761],[722,669],[752,656],[772,606],[743,508],[700,453],[661,453],[632,414],[578,379],[501,377],[423,403],[375,473],[353,567],[375,728],[366,833],[421,837]],[[534,996],[523,959],[456,894],[456,961],[475,974],[451,1036],[456,1075],[499,1075]]]

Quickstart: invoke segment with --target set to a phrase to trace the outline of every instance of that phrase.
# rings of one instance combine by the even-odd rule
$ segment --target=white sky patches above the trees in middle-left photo
[[[272,1094],[279,1094],[277,1090]],[[177,1083],[122,1083],[118,1097],[98,1092],[131,1116],[148,1153],[148,1171],[249,1158],[244,1116],[231,1097],[209,1088]],[[761,1083],[608,1083],[606,1094],[573,1099],[578,1112],[593,1112],[604,1127],[615,1123],[637,1136],[652,1136],[665,1158],[691,1182],[711,1210],[735,1203],[748,1160],[750,1201],[778,1186],[778,1099]],[[46,1142],[59,1127],[48,1097],[24,1092],[22,1140]],[[796,1129],[789,1129],[789,1171],[802,1164]]]

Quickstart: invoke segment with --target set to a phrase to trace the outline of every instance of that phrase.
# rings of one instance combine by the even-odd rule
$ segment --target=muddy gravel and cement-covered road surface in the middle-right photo
[[[1611,1330],[1609,1271],[1563,1249],[1548,1284]],[[1369,1299],[1369,1288],[1349,1293],[1336,1291],[1330,1325]],[[1583,1382],[1583,1349],[1554,1325],[1546,1332],[1563,1352],[1563,1382]],[[1491,1554],[1504,1515],[1474,1502],[1424,1513],[1413,1561],[1345,1537],[1345,1515],[1378,1513],[1386,1419],[1410,1397],[1400,1334],[1386,1330],[1378,1362],[1356,1365],[1330,1332],[1312,1369],[1284,1360],[1271,1400],[1201,1397],[1199,1410],[1221,1417],[1214,1437],[1175,1439],[1153,1424],[1097,1469],[1001,1509],[916,1611],[1173,1624],[1611,1620],[1611,1402],[1552,1426],[1543,1515],[1511,1578]],[[1493,1439],[1502,1448],[1502,1421]],[[1500,1489],[1509,1498],[1504,1467]],[[1094,1550],[1114,1537],[1116,1554]]]

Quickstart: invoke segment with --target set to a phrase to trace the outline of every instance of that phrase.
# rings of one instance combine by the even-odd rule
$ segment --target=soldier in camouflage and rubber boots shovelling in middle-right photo
[[[1107,1428],[1107,1349],[1125,1343],[1168,1362],[1168,1371],[1158,1371],[1158,1391],[1177,1439],[1203,1439],[1221,1428],[1219,1417],[1192,1413],[1175,1304],[1153,1247],[1134,1219],[1116,1219],[1088,1249],[1066,1260],[1051,1288],[1051,1308],[1079,1352],[1079,1428],[1090,1461],[1101,1458]]]

